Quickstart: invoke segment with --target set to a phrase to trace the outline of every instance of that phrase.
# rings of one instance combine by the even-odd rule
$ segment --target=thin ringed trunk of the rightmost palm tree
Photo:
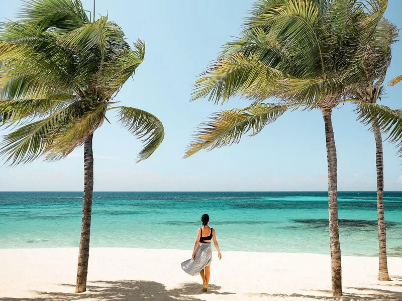
[[[378,122],[376,120],[373,120],[371,125],[375,138],[375,166],[377,168],[377,228],[379,245],[378,280],[389,281],[390,279],[388,275],[388,264],[386,258],[386,234],[384,219],[384,162],[382,157],[382,138]]]

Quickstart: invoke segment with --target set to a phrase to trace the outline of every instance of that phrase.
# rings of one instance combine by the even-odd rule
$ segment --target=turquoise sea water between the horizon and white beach
[[[385,193],[388,255],[402,256],[402,192]],[[0,247],[78,246],[80,192],[0,192]],[[191,249],[211,216],[222,251],[329,253],[323,192],[95,192],[92,247]],[[341,249],[377,254],[376,194],[339,193]]]

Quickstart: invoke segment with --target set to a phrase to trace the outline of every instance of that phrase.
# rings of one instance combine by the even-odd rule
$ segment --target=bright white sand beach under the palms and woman
[[[0,300],[402,300],[402,258],[392,281],[376,280],[378,259],[343,257],[343,297],[331,297],[328,255],[214,252],[210,291],[180,268],[191,251],[92,248],[88,291],[74,293],[77,248],[0,249]]]

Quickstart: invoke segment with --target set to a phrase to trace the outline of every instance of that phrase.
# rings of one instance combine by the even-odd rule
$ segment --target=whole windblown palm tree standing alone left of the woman
[[[9,165],[65,158],[84,145],[84,194],[76,292],[86,290],[93,192],[92,138],[106,113],[145,143],[147,159],[164,137],[161,121],[138,108],[112,106],[144,59],[107,17],[90,23],[79,0],[31,0],[0,34],[0,123],[14,128],[1,145]]]

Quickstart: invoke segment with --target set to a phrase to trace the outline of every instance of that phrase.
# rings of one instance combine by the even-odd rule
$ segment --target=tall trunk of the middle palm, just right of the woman
[[[331,110],[323,110],[328,160],[328,211],[331,247],[332,294],[342,295],[341,246],[338,229],[338,174]]]

